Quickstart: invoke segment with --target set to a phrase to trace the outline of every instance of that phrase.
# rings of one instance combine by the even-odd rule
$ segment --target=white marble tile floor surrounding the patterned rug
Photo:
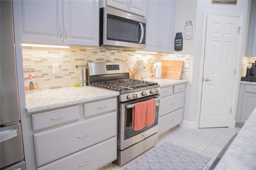
[[[160,146],[164,142],[171,142],[178,144],[184,148],[188,148],[205,156],[211,157],[210,161],[206,164],[203,170],[208,166],[211,166],[216,156],[230,140],[230,138],[241,128],[184,128],[176,127],[162,136],[158,137],[156,146],[150,148],[146,152],[130,160],[126,164],[120,166],[116,164],[109,165],[104,170],[122,170],[128,164],[138,159],[140,156],[150,152],[157,146]]]

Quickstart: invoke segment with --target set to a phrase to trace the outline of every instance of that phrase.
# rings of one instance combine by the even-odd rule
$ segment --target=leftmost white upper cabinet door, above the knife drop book
[[[14,23],[22,30],[24,42],[62,43],[62,1],[13,1]]]

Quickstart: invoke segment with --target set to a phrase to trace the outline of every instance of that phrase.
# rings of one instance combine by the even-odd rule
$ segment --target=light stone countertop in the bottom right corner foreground
[[[256,108],[214,170],[256,169]]]

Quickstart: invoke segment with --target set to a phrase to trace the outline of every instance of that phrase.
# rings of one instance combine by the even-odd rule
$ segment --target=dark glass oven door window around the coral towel
[[[133,103],[128,103],[126,105],[132,105],[134,103],[138,103],[138,102],[142,102],[142,101],[136,101]],[[134,130],[134,128],[132,128],[132,109],[133,108],[129,108],[129,109],[125,109],[125,117],[124,117],[124,140],[131,138],[133,136],[136,136],[137,134],[140,134],[156,125],[158,125],[158,110],[159,110],[159,100],[156,100],[156,116],[155,116],[155,121],[152,125],[144,127],[140,130]]]

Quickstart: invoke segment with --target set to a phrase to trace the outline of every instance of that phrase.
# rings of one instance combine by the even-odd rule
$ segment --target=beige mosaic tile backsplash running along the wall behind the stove
[[[136,61],[141,59],[144,63],[152,59],[154,63],[159,60],[182,60],[183,68],[181,79],[188,79],[190,55],[173,54],[141,54],[134,51],[107,50],[107,49],[78,49],[78,48],[49,48],[49,47],[22,47],[23,67],[35,68],[37,77],[33,77],[38,83],[38,90],[72,87],[77,79],[76,65],[79,68],[86,67],[87,62],[100,61],[126,61],[131,69]],[[59,64],[59,74],[52,73],[52,64]],[[148,69],[144,70],[143,77],[148,77]],[[142,77],[142,78],[143,78]],[[24,79],[24,86],[27,79]]]

